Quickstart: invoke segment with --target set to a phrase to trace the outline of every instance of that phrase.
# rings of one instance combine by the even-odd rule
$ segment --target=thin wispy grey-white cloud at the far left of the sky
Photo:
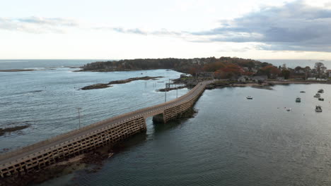
[[[75,20],[65,18],[0,18],[0,30],[29,33],[63,33],[68,27],[78,27]]]

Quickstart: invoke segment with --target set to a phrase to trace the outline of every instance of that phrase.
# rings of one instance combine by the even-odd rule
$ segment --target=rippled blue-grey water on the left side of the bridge
[[[130,72],[74,72],[77,68],[47,68],[58,63],[33,63],[40,70],[0,72],[0,128],[30,125],[18,132],[0,136],[0,151],[33,144],[79,128],[77,108],[81,108],[81,126],[122,113],[153,106],[165,101],[165,82],[180,77],[173,70],[140,70]],[[18,62],[19,63],[19,62]],[[28,63],[28,62],[23,62]],[[45,63],[42,62],[42,63]],[[65,66],[86,61],[69,61]],[[11,68],[20,68],[11,63]],[[9,64],[8,64],[9,65]],[[28,65],[26,65],[27,68]],[[129,77],[163,76],[158,80],[138,80],[106,89],[81,90],[86,85],[107,83]],[[167,99],[185,94],[187,89],[168,92]]]

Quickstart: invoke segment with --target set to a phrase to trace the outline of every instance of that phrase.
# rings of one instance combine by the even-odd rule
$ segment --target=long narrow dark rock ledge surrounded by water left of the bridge
[[[115,80],[115,81],[111,81],[111,82],[108,82],[108,83],[98,83],[98,84],[95,84],[95,85],[88,85],[88,86],[83,87],[81,89],[83,89],[83,90],[86,90],[86,89],[104,89],[104,88],[112,87],[112,85],[115,85],[115,84],[125,84],[125,83],[128,83],[128,82],[137,81],[137,80],[158,80],[158,78],[161,78],[161,77],[163,77],[163,76],[131,77],[131,78],[128,78],[126,80]]]

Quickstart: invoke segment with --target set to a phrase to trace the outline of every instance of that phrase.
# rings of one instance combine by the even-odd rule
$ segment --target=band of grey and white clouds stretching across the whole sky
[[[66,18],[0,18],[2,30],[64,33],[69,27],[81,29],[75,20]],[[254,43],[255,49],[271,51],[331,51],[331,9],[308,6],[303,1],[265,6],[240,18],[220,20],[219,27],[200,32],[146,31],[112,25],[84,29],[180,37],[190,42]]]

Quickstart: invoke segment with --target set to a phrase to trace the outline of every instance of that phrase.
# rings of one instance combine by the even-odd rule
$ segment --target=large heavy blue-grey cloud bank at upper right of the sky
[[[260,42],[259,49],[331,51],[331,10],[294,1],[265,6],[212,30],[191,32],[195,42]],[[204,36],[204,39],[199,37]]]

